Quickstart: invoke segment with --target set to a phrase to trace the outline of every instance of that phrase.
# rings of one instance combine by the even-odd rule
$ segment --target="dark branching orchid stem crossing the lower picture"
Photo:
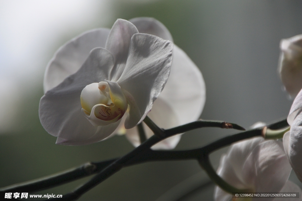
[[[149,125],[147,123],[146,124],[150,127],[153,127],[155,130],[160,129],[149,118],[147,118],[146,121],[149,123]],[[174,134],[183,133],[185,131],[193,130],[200,127],[221,127],[221,125],[219,125],[217,122],[219,122],[220,124],[223,123],[222,121],[214,121],[216,123],[213,123],[213,121],[204,121],[204,120],[199,120],[197,122],[198,123],[192,122],[180,126],[178,127],[179,130],[178,129],[175,130],[175,128],[168,129],[168,130],[160,129],[161,130],[160,132],[163,132],[165,134],[165,137],[170,137]],[[196,124],[198,125],[196,126]],[[288,126],[286,120],[281,120],[276,123],[270,124],[267,127],[280,129],[285,126]],[[233,128],[235,127],[233,126]],[[222,139],[210,143],[209,145],[199,149],[192,149],[192,150],[185,150],[185,151],[153,151],[150,149],[150,147],[153,144],[159,142],[161,139],[156,136],[152,136],[144,143],[142,143],[140,146],[133,149],[133,151],[129,152],[128,154],[124,155],[119,159],[111,159],[98,163],[86,163],[84,165],[79,166],[78,168],[73,168],[61,173],[50,175],[48,177],[43,177],[37,180],[1,188],[0,192],[13,192],[13,191],[33,192],[37,190],[47,189],[50,187],[55,187],[60,184],[71,182],[76,179],[98,173],[97,175],[95,175],[95,177],[93,177],[91,180],[89,180],[88,182],[86,182],[76,190],[74,190],[72,193],[63,195],[63,198],[58,199],[58,200],[66,200],[66,201],[75,200],[78,199],[82,194],[84,194],[91,188],[95,187],[97,184],[101,183],[102,181],[110,177],[112,174],[119,171],[123,167],[135,165],[142,162],[148,162],[148,161],[188,160],[188,159],[198,159],[199,161],[204,159],[208,160],[207,158],[204,158],[204,156],[207,156],[208,154],[210,154],[210,152],[213,152],[214,150],[220,149],[224,146],[230,145],[231,143],[237,142],[239,140],[243,140],[255,136],[261,136],[262,132],[263,132],[263,128],[256,128],[253,130],[248,130],[231,136],[223,137]],[[204,169],[207,172],[209,172],[208,174],[210,175],[211,178],[215,177],[213,176],[214,175],[213,168],[210,166],[210,163],[204,164],[206,162],[207,161],[202,162]],[[209,167],[207,165],[209,165]],[[57,199],[47,199],[47,200],[57,200]]]

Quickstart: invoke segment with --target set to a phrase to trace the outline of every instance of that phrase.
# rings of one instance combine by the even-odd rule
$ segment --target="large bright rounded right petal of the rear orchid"
[[[200,70],[178,46],[173,46],[169,79],[159,95],[175,110],[179,124],[195,121],[206,101],[206,87]]]

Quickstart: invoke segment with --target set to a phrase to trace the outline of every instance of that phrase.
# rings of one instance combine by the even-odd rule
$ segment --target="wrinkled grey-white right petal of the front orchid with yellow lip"
[[[140,121],[168,80],[172,48],[170,41],[149,34],[137,33],[131,38],[127,64],[117,83],[135,99],[142,115]]]

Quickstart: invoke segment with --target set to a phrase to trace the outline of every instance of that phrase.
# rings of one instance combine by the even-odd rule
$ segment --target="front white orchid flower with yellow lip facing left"
[[[72,39],[47,66],[41,124],[57,144],[94,143],[114,132],[129,104],[124,125],[134,127],[168,80],[172,48],[122,19]]]

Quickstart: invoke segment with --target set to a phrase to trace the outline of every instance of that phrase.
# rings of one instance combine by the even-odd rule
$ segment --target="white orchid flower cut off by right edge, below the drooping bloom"
[[[291,105],[287,121],[290,131],[283,136],[283,145],[297,177],[302,182],[302,90]]]

